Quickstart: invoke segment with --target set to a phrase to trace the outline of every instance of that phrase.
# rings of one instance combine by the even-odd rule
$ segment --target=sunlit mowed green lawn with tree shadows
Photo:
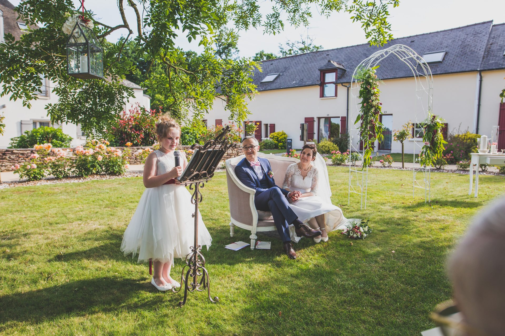
[[[419,335],[435,305],[451,296],[447,254],[472,216],[505,193],[505,177],[432,173],[431,207],[412,198],[412,172],[370,169],[368,209],[347,205],[348,169],[329,167],[333,202],[346,217],[370,220],[365,240],[330,233],[302,239],[296,260],[271,250],[223,246],[229,236],[224,173],[203,189],[201,212],[214,239],[203,254],[206,293],[161,293],[146,264],[120,252],[122,234],[144,187],[141,178],[0,190],[2,335]],[[394,253],[393,253],[394,251]],[[180,274],[176,260],[172,275]]]

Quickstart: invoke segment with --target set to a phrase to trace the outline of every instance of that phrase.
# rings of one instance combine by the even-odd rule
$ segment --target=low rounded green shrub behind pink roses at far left
[[[27,130],[19,137],[11,139],[9,148],[33,148],[35,145],[52,144],[53,147],[70,147],[72,137],[61,128],[41,126]]]

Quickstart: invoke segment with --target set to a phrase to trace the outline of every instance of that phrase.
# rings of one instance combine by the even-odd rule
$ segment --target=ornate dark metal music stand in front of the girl
[[[208,141],[203,146],[198,144],[191,146],[191,149],[194,150],[193,156],[181,176],[177,178],[181,185],[189,185],[189,190],[194,190],[191,196],[191,203],[194,204],[194,213],[192,215],[194,218],[194,244],[190,247],[192,252],[186,255],[186,264],[182,267],[181,287],[172,289],[173,292],[179,292],[182,289],[182,283],[184,283],[184,299],[179,302],[179,307],[186,303],[188,291],[201,292],[206,288],[209,300],[213,303],[219,301],[217,296],[214,297],[214,300],[211,298],[209,273],[205,268],[205,258],[200,252],[201,245],[198,245],[198,204],[203,200],[199,189],[211,180],[224,154],[230,147],[234,146],[226,140],[229,131],[230,126],[226,126],[216,139]],[[186,276],[184,276],[186,267],[188,268]],[[198,277],[201,277],[199,281]],[[189,283],[189,279],[191,279],[191,283]]]

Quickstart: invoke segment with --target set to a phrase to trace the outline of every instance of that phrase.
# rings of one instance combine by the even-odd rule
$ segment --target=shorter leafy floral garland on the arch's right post
[[[428,111],[428,119],[421,123],[424,128],[423,148],[419,154],[421,166],[434,167],[436,160],[442,157],[442,152],[445,149],[443,144],[447,144],[442,136],[444,121]]]

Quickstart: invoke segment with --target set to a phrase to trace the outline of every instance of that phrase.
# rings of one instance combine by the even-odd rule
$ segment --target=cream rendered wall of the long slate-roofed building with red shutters
[[[486,91],[492,92],[501,90],[503,83],[498,81],[499,76],[503,81],[505,75],[503,72],[496,72],[491,76],[483,74],[489,78],[489,89]],[[458,128],[461,131],[473,130],[473,119],[475,112],[475,92],[476,92],[476,72],[452,74],[452,75],[437,75],[433,76],[433,112],[440,115],[447,121],[448,131],[455,131]],[[486,77],[486,78],[487,78]],[[486,80],[483,80],[483,85]],[[348,83],[345,83],[346,85]],[[501,89],[500,89],[501,88]],[[413,78],[385,80],[381,86],[380,100],[383,103],[382,111],[384,114],[393,115],[393,130],[401,128],[408,121],[414,121],[414,104],[415,104],[415,81]],[[498,108],[494,110],[488,108],[486,104],[495,105],[499,103],[490,94],[489,97],[484,95],[484,86],[481,99],[481,127],[485,126],[488,121],[486,118],[494,118],[497,121]],[[499,94],[499,92],[498,92]],[[496,95],[497,96],[497,95]],[[215,125],[216,119],[223,119],[226,123],[229,117],[229,112],[224,110],[224,103],[221,99],[216,99],[213,109],[205,116],[209,126]],[[317,120],[318,117],[341,117],[346,115],[346,88],[339,85],[336,98],[319,98],[319,86],[281,89],[272,91],[262,91],[254,100],[248,104],[251,114],[249,120],[262,121],[262,137],[264,137],[265,123],[275,123],[275,130],[284,130],[289,138],[293,139],[293,148],[301,148],[303,142],[299,141],[299,124],[304,122],[305,117],[314,117],[315,131],[317,137]],[[349,118],[347,127],[352,120],[350,116],[352,106],[350,105],[349,93]],[[489,110],[489,112],[487,112]],[[494,112],[493,112],[494,111]],[[485,117],[483,115],[486,115]],[[355,116],[356,117],[356,116]],[[420,120],[421,121],[421,120]],[[494,122],[496,122],[494,121]],[[413,142],[406,142],[406,153],[413,153]],[[391,152],[401,152],[401,144],[392,142]]]

